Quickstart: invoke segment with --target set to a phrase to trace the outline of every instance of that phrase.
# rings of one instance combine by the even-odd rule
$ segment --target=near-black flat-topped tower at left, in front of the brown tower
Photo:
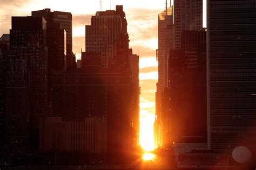
[[[44,18],[12,17],[10,48],[16,59],[26,62],[29,72],[30,149],[33,150],[39,146],[39,117],[49,114],[48,49]]]

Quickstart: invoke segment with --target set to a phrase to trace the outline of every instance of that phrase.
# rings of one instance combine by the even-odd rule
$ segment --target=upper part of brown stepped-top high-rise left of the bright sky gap
[[[86,52],[99,52],[102,65],[107,67],[113,62],[113,56],[118,52],[119,48],[116,48],[115,43],[121,33],[122,38],[129,42],[127,21],[122,5],[117,5],[116,11],[98,11],[95,16],[92,16],[91,25],[85,26]]]

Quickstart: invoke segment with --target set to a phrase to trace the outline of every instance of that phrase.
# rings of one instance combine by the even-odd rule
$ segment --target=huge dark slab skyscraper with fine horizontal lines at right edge
[[[208,147],[255,153],[256,3],[207,1]]]

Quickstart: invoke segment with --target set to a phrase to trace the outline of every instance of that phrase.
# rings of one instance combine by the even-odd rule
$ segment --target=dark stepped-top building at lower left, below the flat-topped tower
[[[30,82],[27,63],[9,56],[5,81],[5,143],[12,157],[19,157],[29,147]]]

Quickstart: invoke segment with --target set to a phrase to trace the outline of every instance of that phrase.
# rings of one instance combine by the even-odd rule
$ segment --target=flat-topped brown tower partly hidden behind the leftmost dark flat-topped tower
[[[32,11],[32,16],[44,17],[47,22],[47,46],[49,48],[49,59],[56,58],[56,60],[63,60],[65,58],[66,67],[73,68],[73,65],[76,62],[76,59],[73,56],[72,52],[72,13],[70,12],[61,12],[61,11],[51,11],[51,9],[44,9],[39,11]],[[59,26],[52,26],[52,23],[60,23]],[[66,35],[64,36],[63,30],[65,30]],[[58,32],[58,33],[57,33]],[[57,34],[56,34],[57,33]],[[63,47],[63,39],[66,37],[66,47]],[[57,40],[57,41],[56,41]],[[56,41],[56,44],[59,47],[53,50],[56,46],[53,42]],[[64,48],[66,48],[66,56],[63,54]],[[55,55],[53,55],[55,54]],[[56,55],[57,54],[57,55]],[[50,62],[50,60],[49,60]],[[63,63],[63,61],[62,61]],[[62,65],[65,66],[65,65]],[[61,67],[63,69],[63,67]],[[65,68],[65,67],[64,67]],[[55,67],[53,69],[56,70]]]

